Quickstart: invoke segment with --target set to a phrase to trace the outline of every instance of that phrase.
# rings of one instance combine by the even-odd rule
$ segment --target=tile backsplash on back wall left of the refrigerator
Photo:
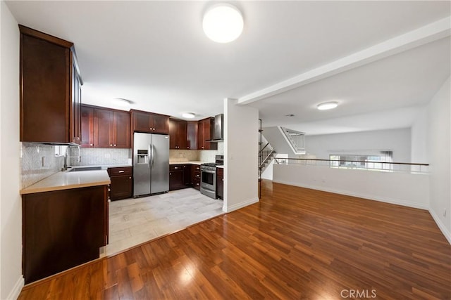
[[[78,148],[70,149],[71,166],[91,166],[96,164],[131,164],[131,149],[114,148]]]

